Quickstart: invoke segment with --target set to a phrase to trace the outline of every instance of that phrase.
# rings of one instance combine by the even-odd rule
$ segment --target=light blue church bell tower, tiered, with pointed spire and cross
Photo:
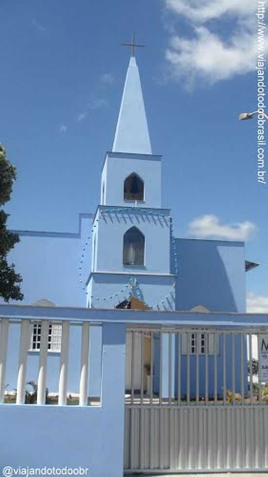
[[[170,210],[162,209],[161,156],[152,154],[134,41],[130,46],[113,148],[101,173],[87,304],[115,308],[135,298],[172,310]]]

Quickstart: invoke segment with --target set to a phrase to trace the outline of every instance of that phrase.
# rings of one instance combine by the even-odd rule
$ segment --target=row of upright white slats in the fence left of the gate
[[[14,349],[8,349],[8,335],[12,326],[20,327],[19,333],[19,359],[18,363],[12,363],[12,376],[17,373],[16,404],[25,403],[26,373],[29,352],[35,352],[38,360],[38,375],[36,379],[38,405],[46,403],[47,394],[47,363],[48,355],[58,352],[59,373],[58,392],[56,401],[58,405],[66,405],[68,395],[68,372],[72,363],[69,363],[70,354],[70,328],[75,326],[81,329],[80,343],[77,344],[77,352],[80,353],[79,390],[78,404],[85,406],[90,404],[88,396],[89,388],[89,364],[90,364],[90,329],[89,322],[72,323],[70,320],[53,322],[49,319],[41,320],[9,320],[2,318],[0,322],[0,403],[5,402],[6,387],[6,363],[8,353]],[[55,331],[56,330],[56,331]],[[54,341],[55,338],[55,341]],[[16,346],[16,340],[9,341],[11,348]],[[72,353],[74,351],[72,350]],[[101,356],[99,355],[99,360]],[[96,363],[95,363],[96,364]],[[99,366],[100,367],[100,366]],[[55,370],[55,372],[57,372]],[[99,376],[100,379],[100,376]],[[55,403],[55,400],[54,402]]]

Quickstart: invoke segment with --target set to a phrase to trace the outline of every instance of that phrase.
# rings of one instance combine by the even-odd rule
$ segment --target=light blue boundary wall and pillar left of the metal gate
[[[103,325],[102,356],[100,407],[0,404],[0,470],[81,466],[90,477],[123,475],[124,324]]]

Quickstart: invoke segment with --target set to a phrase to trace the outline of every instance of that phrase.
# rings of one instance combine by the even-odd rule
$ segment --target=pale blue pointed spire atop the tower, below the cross
[[[139,70],[131,56],[115,131],[113,152],[152,154]]]

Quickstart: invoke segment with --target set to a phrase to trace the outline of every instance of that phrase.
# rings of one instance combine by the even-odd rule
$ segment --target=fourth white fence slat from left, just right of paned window
[[[59,380],[58,380],[58,405],[59,406],[65,406],[67,402],[69,331],[70,331],[70,322],[63,321],[62,331],[61,331],[61,350],[60,350]]]

